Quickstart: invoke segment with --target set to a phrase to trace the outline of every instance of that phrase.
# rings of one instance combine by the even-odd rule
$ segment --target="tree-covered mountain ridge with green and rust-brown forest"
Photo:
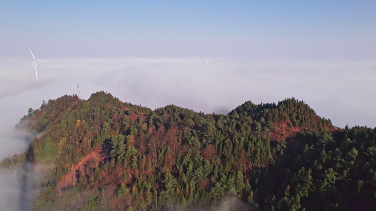
[[[376,208],[376,129],[334,130],[294,98],[217,115],[65,95],[18,127],[41,133],[36,160],[55,164],[37,210],[207,207],[226,194],[265,211]]]

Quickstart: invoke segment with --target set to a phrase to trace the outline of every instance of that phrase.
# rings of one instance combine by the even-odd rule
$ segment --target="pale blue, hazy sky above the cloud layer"
[[[2,1],[0,56],[370,60],[376,2]]]

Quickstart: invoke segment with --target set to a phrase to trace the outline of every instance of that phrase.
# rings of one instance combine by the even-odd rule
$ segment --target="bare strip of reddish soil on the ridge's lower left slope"
[[[92,149],[91,153],[83,157],[79,163],[72,165],[70,171],[61,176],[61,181],[56,185],[55,190],[58,191],[59,197],[62,196],[61,191],[70,186],[75,187],[77,184],[76,172],[83,172],[85,164],[89,167],[96,167],[97,164],[103,162],[104,156],[102,150],[98,148]]]

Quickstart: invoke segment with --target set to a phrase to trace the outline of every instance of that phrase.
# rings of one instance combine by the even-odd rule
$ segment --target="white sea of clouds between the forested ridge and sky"
[[[39,81],[27,73],[30,58],[0,57],[0,159],[23,151],[12,128],[42,100],[105,90],[152,109],[167,104],[226,113],[244,101],[277,102],[294,96],[344,127],[376,127],[375,62],[238,60],[217,58],[41,58]],[[212,59],[205,57],[205,59]]]

